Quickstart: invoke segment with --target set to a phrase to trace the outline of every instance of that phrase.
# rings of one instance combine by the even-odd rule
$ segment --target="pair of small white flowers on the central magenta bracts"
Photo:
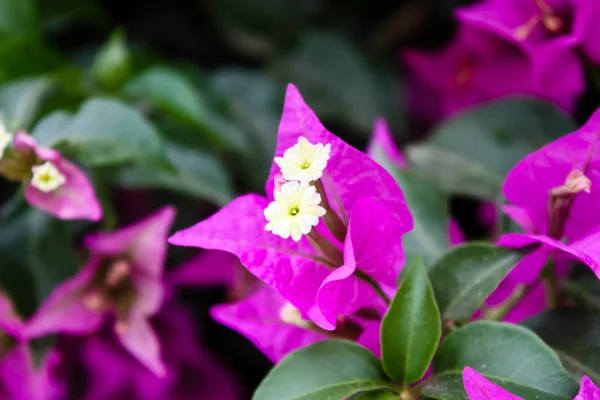
[[[297,242],[319,223],[325,209],[320,206],[321,195],[310,182],[323,176],[330,151],[329,144],[312,144],[300,137],[283,157],[275,157],[284,183],[275,185],[275,201],[264,211],[267,231]]]

